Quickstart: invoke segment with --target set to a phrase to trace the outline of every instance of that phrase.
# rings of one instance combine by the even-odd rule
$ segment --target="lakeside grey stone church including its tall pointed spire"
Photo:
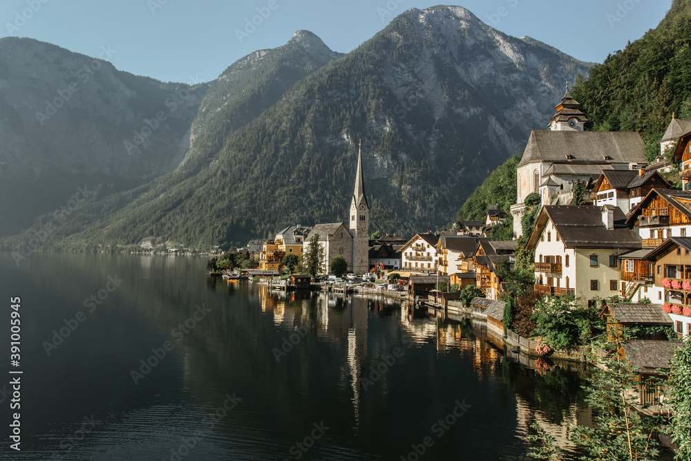
[[[365,195],[365,182],[362,174],[362,144],[357,154],[355,187],[350,199],[348,225],[343,223],[317,224],[303,243],[303,253],[307,252],[312,236],[319,235],[319,245],[324,250],[320,272],[329,272],[331,261],[343,256],[348,262],[348,271],[365,274],[369,270],[369,230],[370,205]]]

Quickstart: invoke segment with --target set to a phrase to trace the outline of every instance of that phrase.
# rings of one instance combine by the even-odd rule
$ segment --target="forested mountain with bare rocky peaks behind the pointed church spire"
[[[315,64],[301,77],[296,66],[299,79],[281,80],[287,70],[274,65],[256,70],[267,85],[284,84],[245,96],[229,83],[234,69],[274,62],[274,50],[241,59],[209,84],[178,169],[90,200],[54,243],[229,246],[343,220],[359,140],[373,230],[428,229],[453,219],[531,125],[546,124],[564,82],[589,69],[452,6],[408,10],[342,57],[309,32],[284,47],[278,54],[299,47]]]

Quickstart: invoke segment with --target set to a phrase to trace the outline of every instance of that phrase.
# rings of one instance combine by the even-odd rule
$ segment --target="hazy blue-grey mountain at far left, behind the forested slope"
[[[33,39],[0,39],[0,194],[12,197],[0,201],[0,234],[65,205],[87,182],[126,190],[178,167],[206,89]]]

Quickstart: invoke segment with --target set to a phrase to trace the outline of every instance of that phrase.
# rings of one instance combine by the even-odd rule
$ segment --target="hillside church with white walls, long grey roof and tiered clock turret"
[[[531,132],[518,164],[518,203],[511,207],[516,236],[522,234],[524,200],[529,194],[540,194],[542,205],[557,194],[560,203],[570,203],[574,187],[598,178],[603,170],[637,170],[647,164],[638,133],[582,131],[585,116],[579,106],[567,91],[550,131]]]

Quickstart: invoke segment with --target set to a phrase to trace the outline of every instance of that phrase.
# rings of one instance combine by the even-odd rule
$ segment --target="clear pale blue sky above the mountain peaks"
[[[602,62],[655,28],[671,0],[464,0],[489,25],[529,35],[583,61]],[[269,6],[274,9],[270,9]],[[97,57],[102,47],[121,69],[162,81],[207,82],[254,50],[274,48],[296,30],[332,50],[357,48],[417,0],[2,0],[0,35],[31,37]],[[247,37],[245,20],[266,17]],[[267,15],[267,12],[269,13]],[[27,19],[28,18],[28,19]],[[10,31],[8,32],[8,24]],[[251,30],[251,29],[249,29]]]

